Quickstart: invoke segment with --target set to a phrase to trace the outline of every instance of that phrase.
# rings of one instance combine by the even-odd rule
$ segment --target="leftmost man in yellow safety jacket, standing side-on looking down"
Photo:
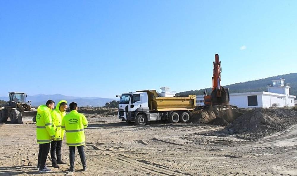
[[[55,139],[55,130],[52,122],[51,111],[55,106],[53,100],[48,100],[45,105],[37,108],[36,114],[36,137],[39,144],[38,164],[39,172],[51,172],[45,165],[48,152],[50,150],[50,142]]]

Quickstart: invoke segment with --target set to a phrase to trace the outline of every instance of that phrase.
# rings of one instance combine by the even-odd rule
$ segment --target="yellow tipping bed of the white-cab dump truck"
[[[158,111],[194,110],[196,95],[188,97],[162,97],[155,90],[137,91],[147,92],[149,97],[149,109]]]

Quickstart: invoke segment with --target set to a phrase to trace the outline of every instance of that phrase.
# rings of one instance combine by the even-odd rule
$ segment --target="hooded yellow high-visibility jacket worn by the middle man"
[[[61,100],[57,105],[56,108],[54,110],[52,110],[52,118],[53,118],[53,124],[55,125],[56,129],[55,129],[55,139],[54,141],[59,141],[59,140],[63,140],[64,137],[64,130],[61,129],[61,124],[62,124],[62,119],[63,117],[66,115],[66,112],[61,112],[59,110],[60,108],[60,104],[62,102],[67,103],[66,100]]]

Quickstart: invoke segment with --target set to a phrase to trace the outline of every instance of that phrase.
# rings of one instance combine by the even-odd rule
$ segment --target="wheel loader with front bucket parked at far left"
[[[29,123],[37,114],[36,109],[32,109],[31,101],[26,102],[27,93],[9,92],[9,101],[0,111],[0,121],[6,122],[10,118],[11,123]]]

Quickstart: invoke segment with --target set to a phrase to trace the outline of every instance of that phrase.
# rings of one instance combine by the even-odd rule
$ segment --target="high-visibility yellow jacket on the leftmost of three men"
[[[45,105],[37,108],[36,114],[36,138],[38,144],[52,142],[55,138],[55,130],[51,117],[51,109]]]

